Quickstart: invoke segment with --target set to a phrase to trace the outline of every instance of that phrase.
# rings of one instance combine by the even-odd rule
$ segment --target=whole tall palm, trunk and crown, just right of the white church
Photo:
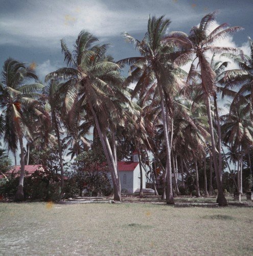
[[[156,82],[159,95],[160,108],[162,109],[164,136],[167,157],[167,204],[174,204],[171,180],[171,142],[169,132],[172,132],[168,126],[169,116],[172,114],[172,96],[175,89],[175,75],[173,74],[171,62],[173,48],[162,44],[162,40],[167,36],[170,20],[164,16],[159,18],[149,17],[147,33],[142,41],[133,38],[128,33],[124,33],[127,41],[131,42],[139,50],[140,57],[131,57],[118,61],[122,66],[130,65],[131,75],[127,82],[136,81],[136,87],[133,90],[132,97],[140,91],[146,90],[153,82]]]

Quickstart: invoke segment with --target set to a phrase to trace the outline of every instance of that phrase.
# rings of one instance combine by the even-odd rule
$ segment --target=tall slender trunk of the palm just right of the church
[[[158,76],[157,76],[158,77]],[[168,127],[167,127],[167,118],[165,113],[165,102],[164,102],[164,94],[162,91],[162,87],[158,82],[158,89],[160,93],[160,104],[162,109],[163,115],[163,123],[164,123],[164,137],[165,137],[165,145],[166,145],[166,155],[167,155],[167,165],[166,165],[166,172],[167,172],[167,191],[166,191],[166,203],[167,204],[174,204],[173,198],[173,191],[172,191],[172,177],[171,177],[171,147],[170,141],[168,136]]]

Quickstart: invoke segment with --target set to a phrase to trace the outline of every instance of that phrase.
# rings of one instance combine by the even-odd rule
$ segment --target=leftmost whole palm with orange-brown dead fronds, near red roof
[[[25,63],[8,58],[3,67],[2,82],[0,83],[0,104],[2,115],[4,115],[4,140],[12,152],[16,152],[17,143],[20,146],[21,172],[15,201],[24,200],[24,175],[25,175],[25,153],[23,137],[29,133],[27,115],[43,116],[38,90],[43,88],[42,84],[25,84],[26,81],[37,79],[34,70],[26,67]]]

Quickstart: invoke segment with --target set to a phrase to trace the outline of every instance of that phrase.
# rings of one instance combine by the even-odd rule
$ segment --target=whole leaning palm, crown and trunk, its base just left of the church
[[[121,92],[120,67],[105,56],[107,44],[95,44],[98,38],[81,31],[71,53],[61,40],[62,53],[68,67],[48,74],[45,80],[64,80],[67,93],[64,101],[67,113],[79,110],[77,105],[86,106],[94,120],[100,141],[111,172],[114,200],[121,201],[120,180],[116,160],[113,157],[107,137],[110,115],[119,118],[113,99],[127,101]]]

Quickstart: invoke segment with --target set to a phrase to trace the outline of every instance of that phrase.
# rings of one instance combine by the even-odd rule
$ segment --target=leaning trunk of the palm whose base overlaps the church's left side
[[[98,117],[96,115],[95,110],[93,109],[93,105],[91,104],[91,102],[88,102],[88,103],[90,106],[91,113],[93,114],[93,117],[95,120],[96,128],[97,128],[97,131],[99,134],[101,144],[103,146],[103,150],[105,153],[107,163],[109,165],[111,178],[112,178],[112,184],[113,184],[114,200],[121,201],[121,191],[120,191],[120,186],[119,186],[118,170],[117,170],[116,164],[114,162],[113,154],[110,150],[110,144],[108,142],[106,135],[103,136],[103,133],[102,133],[100,125],[99,125]]]

